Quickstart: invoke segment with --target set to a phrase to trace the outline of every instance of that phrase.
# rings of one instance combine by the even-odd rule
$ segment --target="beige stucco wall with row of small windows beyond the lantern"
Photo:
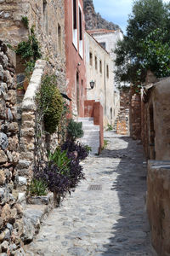
[[[114,116],[114,83],[113,62],[111,55],[103,49],[94,38],[85,33],[86,44],[86,68],[87,68],[87,98],[99,101],[104,108],[104,126],[113,124]],[[92,53],[93,63],[90,64],[89,53]],[[95,68],[95,56],[97,57],[97,69]],[[99,71],[99,61],[102,61],[102,73]],[[107,66],[109,67],[109,78],[107,77]],[[94,89],[90,90],[90,81],[94,81]],[[111,118],[112,108],[112,118]]]

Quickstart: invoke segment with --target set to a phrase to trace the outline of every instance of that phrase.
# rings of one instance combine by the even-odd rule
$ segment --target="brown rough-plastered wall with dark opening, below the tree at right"
[[[142,98],[142,142],[146,158],[170,160],[170,79],[144,88]]]

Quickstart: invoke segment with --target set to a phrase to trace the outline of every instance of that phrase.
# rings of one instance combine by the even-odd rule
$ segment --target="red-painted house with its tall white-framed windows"
[[[65,0],[65,54],[67,95],[71,111],[84,116],[86,67],[84,45],[85,20],[82,0]]]

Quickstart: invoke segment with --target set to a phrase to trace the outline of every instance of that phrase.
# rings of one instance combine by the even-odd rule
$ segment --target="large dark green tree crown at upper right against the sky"
[[[169,4],[138,0],[127,20],[127,35],[116,47],[116,81],[138,85],[147,70],[156,77],[169,75]],[[166,70],[166,71],[165,71]]]

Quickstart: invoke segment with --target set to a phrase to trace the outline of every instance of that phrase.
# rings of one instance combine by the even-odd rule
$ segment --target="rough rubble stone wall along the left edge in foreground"
[[[20,247],[23,229],[16,170],[19,161],[16,77],[11,62],[14,63],[14,54],[0,41],[0,254],[8,255],[14,255]]]

